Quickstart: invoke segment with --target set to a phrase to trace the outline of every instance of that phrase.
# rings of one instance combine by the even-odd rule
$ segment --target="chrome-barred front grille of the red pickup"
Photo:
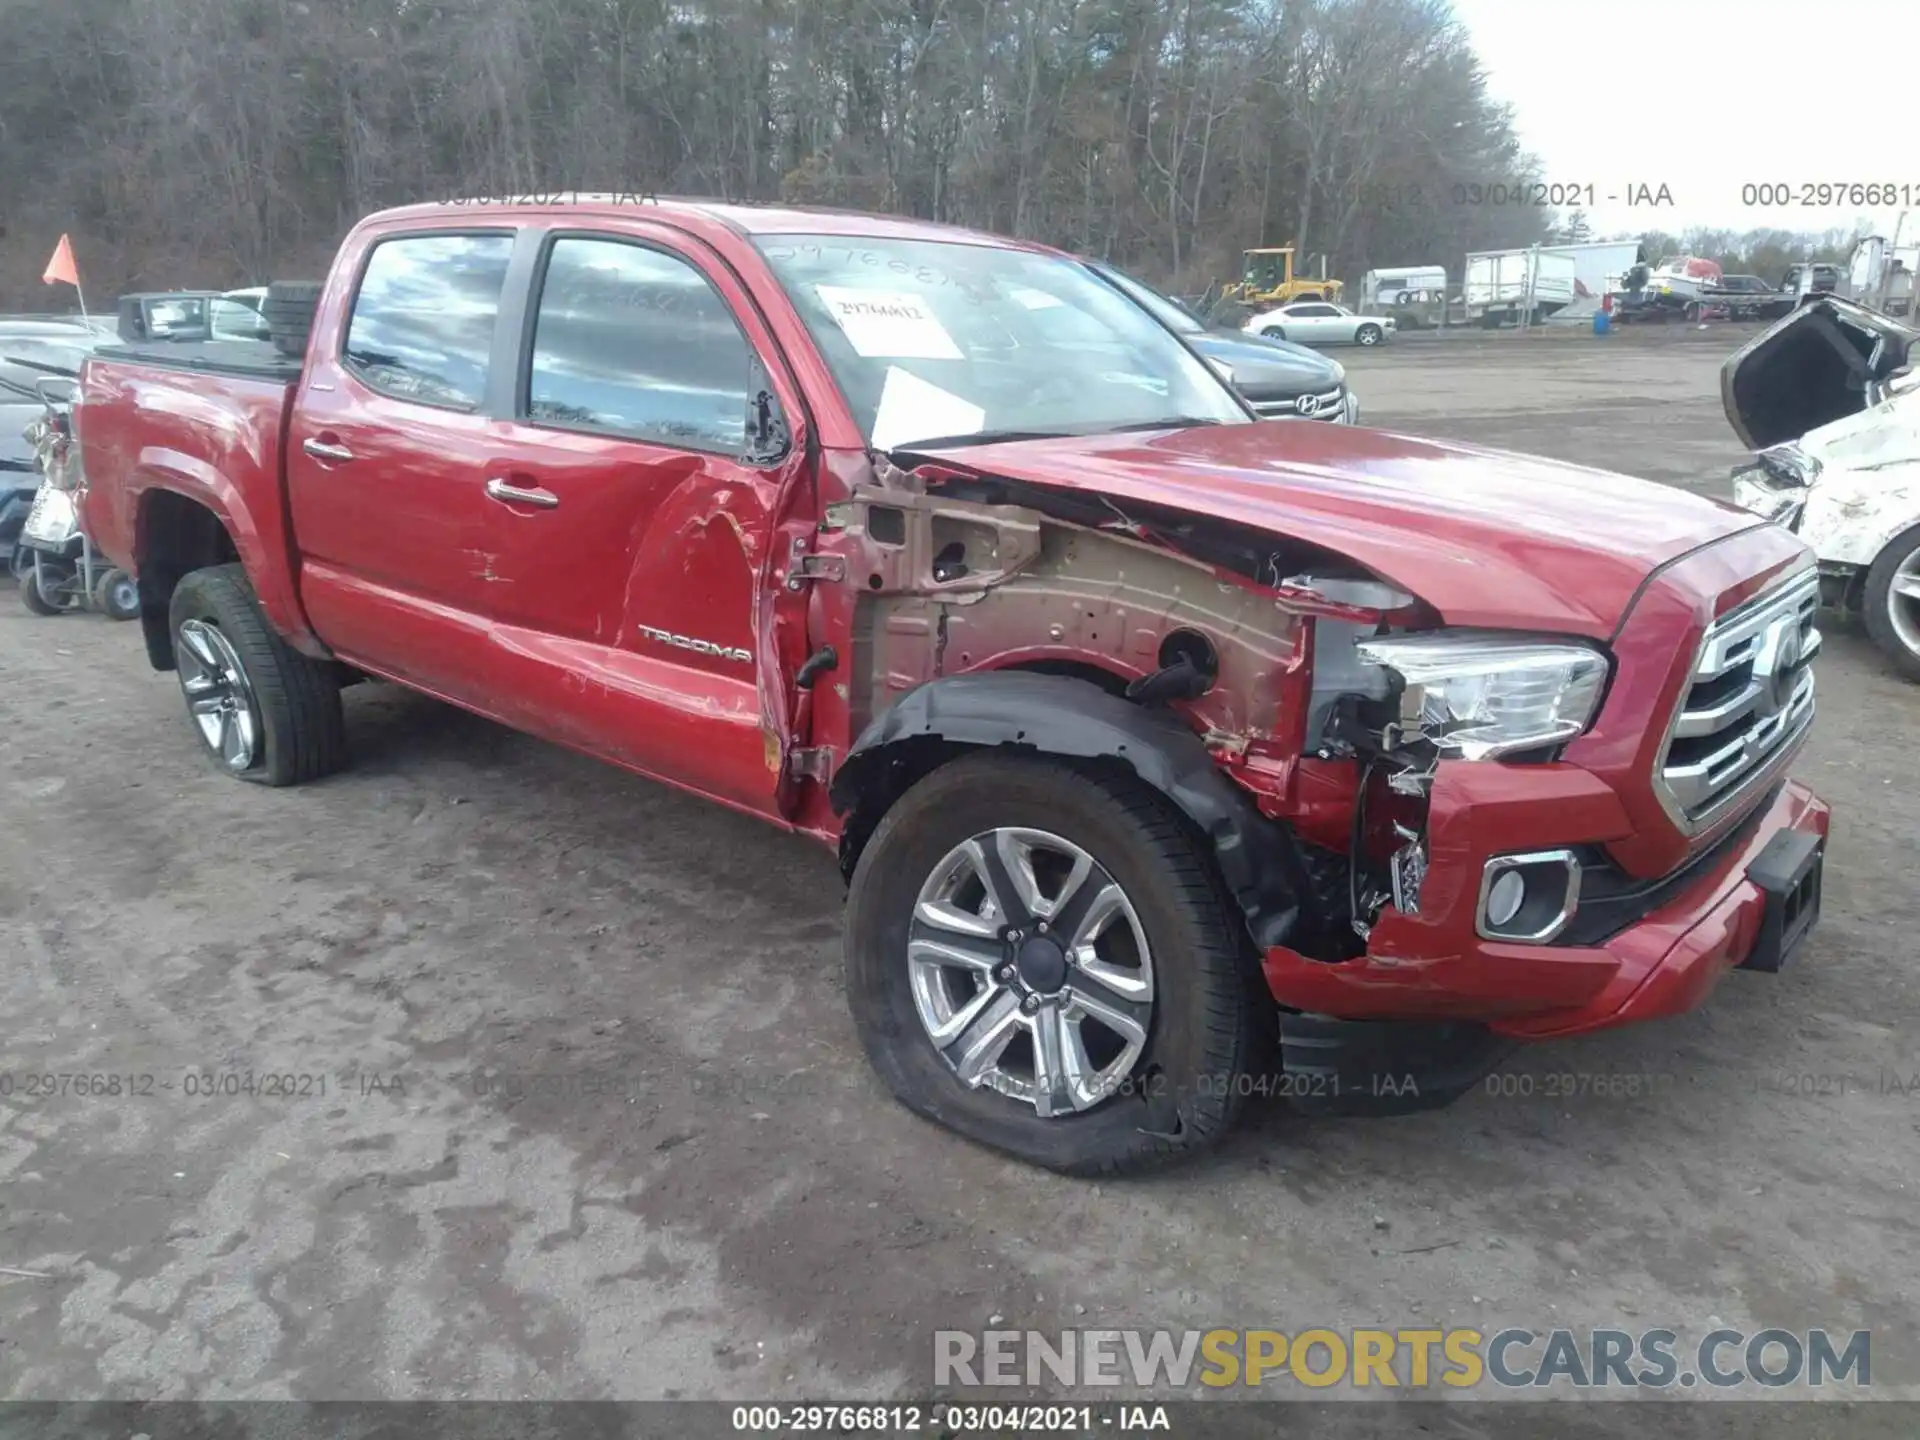
[[[1812,724],[1818,609],[1820,578],[1803,570],[1707,630],[1655,783],[1682,829],[1713,824],[1766,785]]]

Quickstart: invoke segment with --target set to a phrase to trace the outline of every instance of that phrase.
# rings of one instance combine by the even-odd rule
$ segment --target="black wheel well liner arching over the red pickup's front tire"
[[[1313,891],[1298,843],[1219,772],[1200,737],[1171,710],[1150,710],[1085,680],[987,670],[906,691],[854,741],[833,776],[845,816],[841,874],[851,877],[879,818],[918,780],[981,749],[1121,766],[1167,797],[1213,851],[1221,881],[1254,945],[1284,945]]]

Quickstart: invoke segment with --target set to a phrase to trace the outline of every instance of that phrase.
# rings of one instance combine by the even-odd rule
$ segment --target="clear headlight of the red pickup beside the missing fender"
[[[1386,751],[1425,741],[1440,758],[1496,760],[1561,745],[1594,722],[1607,687],[1607,657],[1563,641],[1457,630],[1354,651],[1400,678]]]

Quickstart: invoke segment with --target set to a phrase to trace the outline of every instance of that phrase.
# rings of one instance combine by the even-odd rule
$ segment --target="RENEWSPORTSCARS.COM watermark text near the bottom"
[[[935,1331],[935,1386],[1734,1390],[1872,1384],[1870,1331]]]

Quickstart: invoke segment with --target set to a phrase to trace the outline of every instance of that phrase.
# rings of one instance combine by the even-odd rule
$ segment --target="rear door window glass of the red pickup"
[[[478,409],[511,255],[505,232],[376,244],[348,321],[348,371],[396,399]]]

